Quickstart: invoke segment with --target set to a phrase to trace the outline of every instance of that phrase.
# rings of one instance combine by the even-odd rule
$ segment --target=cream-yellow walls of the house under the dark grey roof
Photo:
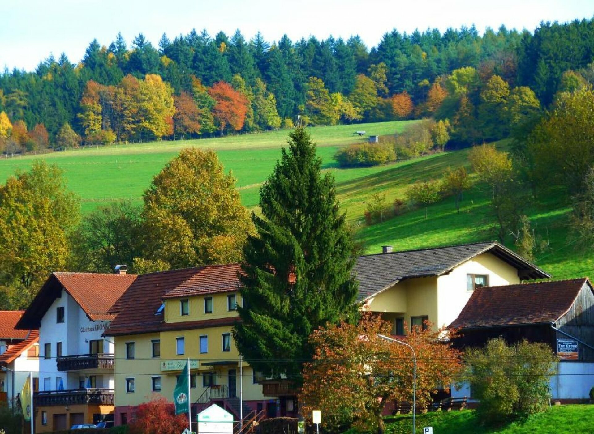
[[[468,274],[488,276],[489,286],[519,283],[517,269],[490,253],[484,253],[439,277],[409,278],[366,300],[365,310],[382,312],[394,324],[403,318],[410,328],[413,317],[427,316],[434,328],[457,318],[470,298],[466,289]],[[394,330],[396,332],[396,330]]]

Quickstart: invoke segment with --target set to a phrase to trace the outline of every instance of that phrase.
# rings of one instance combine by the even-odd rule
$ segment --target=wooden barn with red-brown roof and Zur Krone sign
[[[594,290],[587,278],[488,287],[476,290],[451,328],[455,345],[482,347],[492,338],[551,346],[559,357],[551,396],[584,400],[594,386]],[[463,388],[453,396],[472,396]]]

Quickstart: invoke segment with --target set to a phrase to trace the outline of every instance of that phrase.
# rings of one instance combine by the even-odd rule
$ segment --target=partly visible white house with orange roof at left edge
[[[39,332],[17,330],[15,326],[24,311],[0,311],[0,402],[14,404],[29,373],[33,372],[33,389],[37,390],[39,374]]]

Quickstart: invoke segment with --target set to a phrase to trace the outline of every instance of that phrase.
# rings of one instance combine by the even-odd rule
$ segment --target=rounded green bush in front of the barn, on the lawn
[[[543,411],[549,401],[549,378],[555,372],[555,355],[542,343],[508,346],[503,338],[489,340],[482,349],[465,354],[473,398],[480,403],[479,420],[498,425]]]

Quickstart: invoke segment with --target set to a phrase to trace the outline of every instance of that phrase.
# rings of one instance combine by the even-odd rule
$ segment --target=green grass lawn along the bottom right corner
[[[594,406],[554,406],[544,413],[535,414],[527,420],[514,422],[498,428],[481,425],[473,410],[437,412],[416,417],[416,432],[423,427],[433,427],[434,434],[552,434],[594,432]],[[386,419],[387,434],[412,432],[412,416],[395,416]]]

